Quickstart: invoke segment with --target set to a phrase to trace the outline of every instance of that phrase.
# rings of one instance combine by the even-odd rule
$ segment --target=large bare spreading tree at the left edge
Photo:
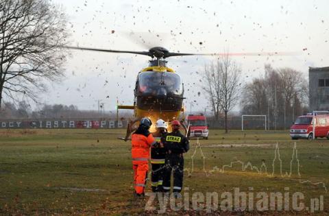
[[[45,80],[63,75],[66,17],[47,0],[0,0],[0,106],[3,96],[36,101]]]

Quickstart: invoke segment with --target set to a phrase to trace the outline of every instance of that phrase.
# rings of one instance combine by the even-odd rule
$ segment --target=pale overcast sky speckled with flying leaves
[[[162,46],[169,51],[259,52],[300,51],[298,56],[234,57],[243,82],[263,74],[264,64],[291,67],[308,76],[308,67],[329,66],[329,1],[127,1],[53,0],[69,19],[71,45],[146,51]],[[303,49],[307,49],[303,51]],[[147,56],[72,51],[61,84],[49,85],[41,95],[47,104],[75,104],[106,110],[116,101],[130,105],[136,75]],[[182,77],[185,104],[204,110],[206,99],[199,82],[204,64],[213,58],[168,58],[168,66]],[[193,102],[196,100],[197,102]]]

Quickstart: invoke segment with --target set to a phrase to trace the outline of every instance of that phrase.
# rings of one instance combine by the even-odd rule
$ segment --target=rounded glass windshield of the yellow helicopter
[[[143,72],[138,75],[137,95],[155,97],[182,97],[180,75],[171,72]]]

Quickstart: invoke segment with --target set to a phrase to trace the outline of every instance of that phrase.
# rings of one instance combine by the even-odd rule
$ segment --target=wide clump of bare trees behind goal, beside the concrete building
[[[267,115],[271,120],[267,121],[268,128],[271,123],[276,130],[278,125],[284,128],[302,114],[308,102],[307,93],[307,82],[300,71],[273,69],[265,64],[265,75],[246,85],[241,106],[243,112]]]

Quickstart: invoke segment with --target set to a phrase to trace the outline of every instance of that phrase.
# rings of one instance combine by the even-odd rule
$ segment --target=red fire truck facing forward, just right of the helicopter
[[[187,125],[190,125],[190,137],[202,137],[208,139],[208,125],[206,117],[201,113],[199,115],[188,115]]]

